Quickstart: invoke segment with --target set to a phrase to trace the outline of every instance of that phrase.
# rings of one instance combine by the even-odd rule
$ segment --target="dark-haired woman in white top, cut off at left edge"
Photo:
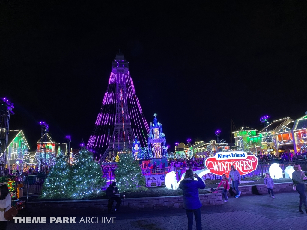
[[[6,185],[0,186],[0,229],[5,230],[7,220],[4,218],[4,213],[11,208],[11,194]]]

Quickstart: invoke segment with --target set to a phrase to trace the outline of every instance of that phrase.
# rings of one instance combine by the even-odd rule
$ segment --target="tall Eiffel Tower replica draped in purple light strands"
[[[97,161],[112,159],[118,152],[131,151],[135,137],[147,147],[147,133],[149,126],[135,94],[128,62],[119,51],[87,148],[95,151]]]

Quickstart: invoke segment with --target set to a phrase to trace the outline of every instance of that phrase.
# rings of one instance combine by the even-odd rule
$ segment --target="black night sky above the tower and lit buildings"
[[[39,121],[87,142],[119,48],[171,147],[305,114],[306,1],[103,2],[1,1],[0,96],[32,150]]]

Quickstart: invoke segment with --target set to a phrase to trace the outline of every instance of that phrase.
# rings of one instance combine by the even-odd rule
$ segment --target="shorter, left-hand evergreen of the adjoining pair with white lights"
[[[71,196],[71,167],[64,156],[56,159],[45,180],[41,198],[64,198]]]

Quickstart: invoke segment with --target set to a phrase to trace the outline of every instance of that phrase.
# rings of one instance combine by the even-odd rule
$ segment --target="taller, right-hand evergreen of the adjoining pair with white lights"
[[[105,185],[101,166],[93,160],[91,152],[82,149],[72,165],[72,197],[77,199],[95,196]]]

